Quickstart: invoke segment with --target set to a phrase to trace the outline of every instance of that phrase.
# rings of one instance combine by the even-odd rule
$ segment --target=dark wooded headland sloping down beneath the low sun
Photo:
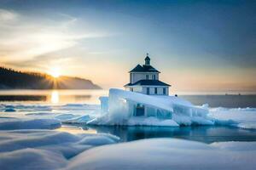
[[[15,71],[0,67],[0,89],[102,89],[90,80],[79,77],[51,77],[38,72]]]

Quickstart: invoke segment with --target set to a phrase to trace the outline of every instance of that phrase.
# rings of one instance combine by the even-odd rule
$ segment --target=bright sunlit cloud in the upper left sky
[[[44,54],[72,48],[87,38],[108,36],[80,28],[82,20],[68,14],[40,17],[0,9],[0,20],[4,20],[0,22],[0,62],[3,63],[33,60]]]

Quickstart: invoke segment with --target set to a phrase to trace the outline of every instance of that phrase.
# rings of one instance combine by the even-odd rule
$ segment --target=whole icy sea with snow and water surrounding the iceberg
[[[254,160],[256,95],[179,95],[194,105],[208,104],[209,115],[219,122],[215,126],[88,126],[85,122],[98,116],[100,110],[98,97],[102,95],[108,95],[108,91],[0,91],[0,167],[3,169],[84,169],[85,167],[85,169],[254,169],[256,167]]]

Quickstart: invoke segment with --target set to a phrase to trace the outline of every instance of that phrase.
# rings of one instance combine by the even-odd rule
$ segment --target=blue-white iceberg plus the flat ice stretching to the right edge
[[[195,106],[174,96],[152,96],[120,89],[110,89],[101,98],[101,116],[88,124],[127,126],[226,125],[256,128],[256,108],[208,108]],[[134,116],[137,105],[143,105],[144,116]]]

